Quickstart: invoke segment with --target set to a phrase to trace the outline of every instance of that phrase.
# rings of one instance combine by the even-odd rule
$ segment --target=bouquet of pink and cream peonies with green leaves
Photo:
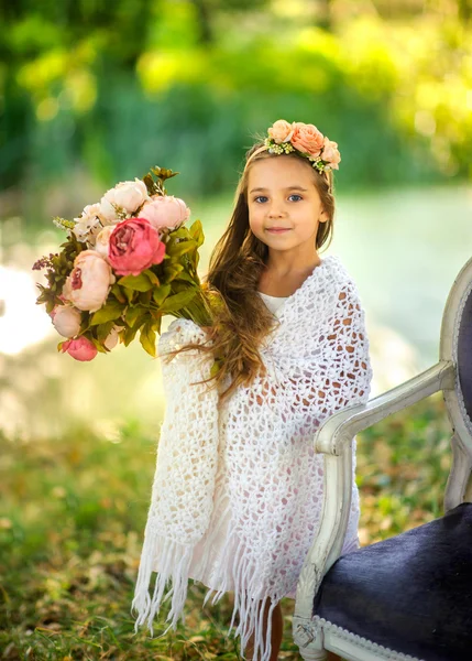
[[[164,185],[176,174],[152,167],[142,180],[110,188],[80,217],[54,218],[67,240],[33,270],[47,269],[47,286],[36,283],[36,303],[45,304],[67,338],[57,350],[91,360],[118,342],[128,346],[140,332],[141,345],[155,357],[165,314],[211,325],[210,296],[197,273],[201,223],[185,227],[190,209]]]

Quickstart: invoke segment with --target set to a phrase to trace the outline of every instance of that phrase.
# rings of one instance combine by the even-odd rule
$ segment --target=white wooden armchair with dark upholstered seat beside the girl
[[[449,293],[439,362],[318,430],[326,499],[297,586],[293,636],[305,660],[472,660],[472,259]],[[352,438],[437,392],[452,426],[444,514],[340,556],[352,488]]]

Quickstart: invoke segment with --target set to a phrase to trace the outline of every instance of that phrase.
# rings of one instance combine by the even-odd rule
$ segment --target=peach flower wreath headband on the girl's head
[[[319,173],[339,170],[341,154],[338,151],[338,143],[329,140],[314,124],[306,124],[303,121],[288,123],[285,119],[278,119],[267,129],[267,133],[264,147],[250,155],[244,167],[248,167],[254,156],[268,151],[271,154],[298,153],[308,159]]]

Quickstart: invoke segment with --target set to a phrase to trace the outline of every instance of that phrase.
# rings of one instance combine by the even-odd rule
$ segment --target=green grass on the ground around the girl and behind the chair
[[[358,435],[361,541],[442,513],[451,432],[433,395]],[[226,632],[232,596],[202,609],[190,582],[186,624],[135,635],[130,615],[154,472],[155,438],[129,423],[107,440],[75,429],[54,441],[0,438],[0,659],[239,659]],[[282,600],[281,659],[299,659],[294,602]],[[160,621],[158,636],[166,628]]]

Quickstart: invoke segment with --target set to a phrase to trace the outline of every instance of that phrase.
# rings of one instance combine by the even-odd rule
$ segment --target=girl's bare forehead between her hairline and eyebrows
[[[286,188],[300,185],[312,187],[314,173],[307,163],[290,156],[273,156],[255,161],[248,174],[248,189],[254,187]]]

